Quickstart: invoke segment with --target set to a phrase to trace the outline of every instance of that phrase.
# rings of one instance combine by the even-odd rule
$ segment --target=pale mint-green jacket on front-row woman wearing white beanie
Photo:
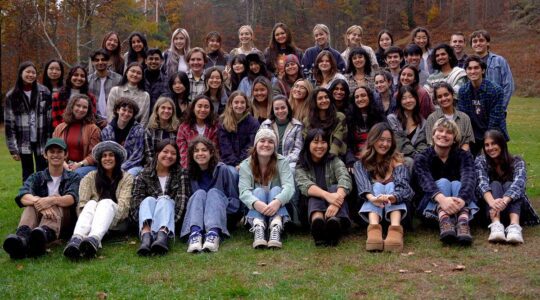
[[[281,206],[289,203],[294,194],[294,177],[289,167],[289,160],[283,155],[277,155],[278,172],[270,182],[270,189],[275,186],[281,187],[281,193],[277,194],[276,199],[281,202]],[[240,200],[249,208],[253,208],[253,203],[259,200],[253,195],[253,190],[263,187],[256,183],[250,168],[251,157],[248,157],[240,163],[240,179],[238,189],[240,190]]]

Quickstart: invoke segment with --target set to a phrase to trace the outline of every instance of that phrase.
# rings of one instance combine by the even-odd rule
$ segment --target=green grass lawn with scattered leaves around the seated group
[[[540,99],[513,98],[511,151],[528,163],[529,195],[540,208]],[[3,135],[2,135],[3,136]],[[2,138],[3,140],[3,138]],[[3,142],[2,142],[3,143]],[[0,238],[21,210],[13,198],[20,164],[0,147]],[[138,240],[106,240],[99,257],[71,262],[63,244],[38,259],[12,261],[0,250],[0,295],[28,298],[530,298],[540,296],[540,230],[524,228],[525,244],[491,245],[473,229],[470,248],[445,247],[438,232],[405,235],[401,254],[367,253],[365,230],[336,248],[316,248],[307,234],[289,235],[280,251],[251,249],[251,234],[233,232],[218,253],[191,255],[176,241],[169,255],[141,258]],[[457,265],[464,266],[455,270]]]

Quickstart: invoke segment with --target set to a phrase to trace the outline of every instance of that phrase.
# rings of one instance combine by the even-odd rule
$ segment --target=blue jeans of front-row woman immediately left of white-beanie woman
[[[212,228],[219,228],[228,236],[227,205],[229,199],[222,191],[215,188],[208,192],[197,190],[189,198],[180,237],[189,234],[191,226],[199,226],[207,232]]]

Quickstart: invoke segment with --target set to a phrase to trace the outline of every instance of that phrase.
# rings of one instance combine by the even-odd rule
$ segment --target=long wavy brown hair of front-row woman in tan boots
[[[385,131],[390,133],[392,144],[388,152],[383,157],[379,157],[377,151],[375,151],[375,143]],[[397,152],[396,138],[388,123],[381,122],[371,127],[368,133],[366,148],[362,152],[361,162],[373,179],[377,177],[384,179],[393,163],[403,162],[403,155]]]

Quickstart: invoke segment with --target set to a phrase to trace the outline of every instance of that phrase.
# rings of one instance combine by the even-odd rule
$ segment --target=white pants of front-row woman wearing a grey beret
[[[118,204],[111,199],[88,201],[79,215],[73,235],[83,238],[93,236],[101,246],[101,239],[109,230],[117,210]]]

